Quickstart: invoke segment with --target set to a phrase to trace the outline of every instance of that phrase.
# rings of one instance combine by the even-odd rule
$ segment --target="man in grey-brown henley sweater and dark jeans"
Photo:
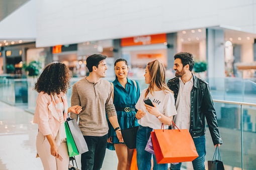
[[[112,99],[112,86],[102,79],[106,77],[105,59],[107,56],[94,54],[87,58],[88,77],[76,82],[72,88],[71,106],[79,105],[79,127],[88,145],[88,152],[81,154],[82,170],[101,169],[105,157],[108,140],[108,122],[116,130],[117,137],[123,142],[123,137],[117,120],[117,113]],[[71,113],[71,118],[77,121],[78,114]]]

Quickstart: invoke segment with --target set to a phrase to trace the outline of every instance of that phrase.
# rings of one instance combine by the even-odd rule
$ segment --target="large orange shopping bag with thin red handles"
[[[151,137],[157,163],[186,162],[198,157],[188,129],[154,129]]]

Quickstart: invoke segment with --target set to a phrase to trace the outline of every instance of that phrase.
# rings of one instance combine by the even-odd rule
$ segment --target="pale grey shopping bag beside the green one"
[[[72,134],[74,143],[76,145],[76,148],[77,148],[79,154],[87,152],[89,149],[88,149],[86,140],[84,139],[82,132],[81,132],[78,124],[76,123],[76,120],[68,117],[66,122],[68,124],[69,130]]]

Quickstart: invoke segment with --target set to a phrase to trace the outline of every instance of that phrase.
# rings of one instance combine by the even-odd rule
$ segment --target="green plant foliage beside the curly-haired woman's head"
[[[40,61],[31,61],[29,64],[24,62],[23,69],[29,72],[29,76],[38,76],[39,70],[42,68],[42,63]]]

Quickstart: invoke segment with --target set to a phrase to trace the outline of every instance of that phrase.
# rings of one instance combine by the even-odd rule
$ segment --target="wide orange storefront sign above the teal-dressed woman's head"
[[[166,42],[166,34],[135,36],[121,39],[121,46],[137,46]]]

